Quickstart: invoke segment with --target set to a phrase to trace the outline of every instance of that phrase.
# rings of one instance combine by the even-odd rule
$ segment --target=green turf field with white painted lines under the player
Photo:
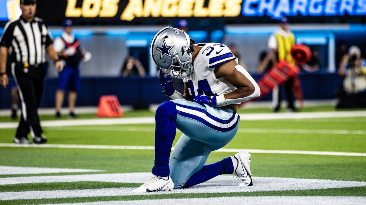
[[[305,108],[301,113],[312,112],[315,115],[323,111],[344,112],[325,106]],[[364,113],[365,110],[351,112]],[[48,143],[45,144],[47,147],[14,147],[16,144],[12,143],[12,138],[15,128],[0,128],[0,204],[98,201],[104,202],[102,204],[110,204],[108,201],[135,201],[135,204],[145,204],[141,200],[249,196],[355,196],[361,197],[357,198],[361,204],[366,203],[366,115],[244,119],[249,113],[273,115],[266,108],[239,109],[241,121],[236,137],[224,147],[225,150],[212,152],[207,163],[234,155],[238,150],[251,150],[250,165],[254,185],[239,190],[235,179],[232,182],[232,176],[223,176],[223,179],[229,179],[227,183],[234,184],[232,189],[220,193],[205,192],[205,189],[210,188],[221,189],[221,185],[216,183],[176,190],[170,194],[130,193],[142,182],[130,180],[128,176],[133,178],[135,175],[142,175],[145,179],[145,173],[149,173],[153,166],[152,123],[76,125],[78,120],[96,119],[94,114],[85,114],[74,120],[75,125],[72,126],[44,127],[44,134],[48,138]],[[153,116],[154,112],[142,110],[125,112],[122,118]],[[45,123],[56,119],[44,115],[41,120]],[[67,116],[63,116],[62,120],[67,120]],[[10,120],[8,116],[0,117],[0,125],[9,122],[17,121]],[[177,130],[174,144],[181,134]],[[17,167],[23,168],[16,169]],[[46,168],[57,169],[45,173]],[[65,171],[66,169],[78,171]],[[41,170],[41,173],[35,170]],[[131,175],[127,175],[128,173]],[[266,183],[272,186],[272,181],[279,178],[284,182],[284,189],[279,187],[271,190],[266,186]],[[294,182],[286,181],[290,179]],[[301,186],[301,183],[306,183],[301,179],[314,180],[311,184],[315,184],[315,187]],[[343,182],[350,185],[344,185]],[[114,193],[115,190],[118,193]]]

